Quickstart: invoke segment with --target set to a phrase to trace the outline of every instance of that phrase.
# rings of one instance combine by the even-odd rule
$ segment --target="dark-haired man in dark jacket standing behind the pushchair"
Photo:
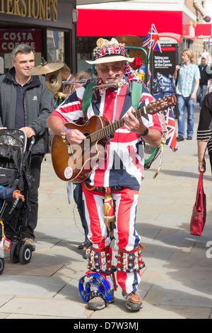
[[[46,120],[54,111],[54,98],[45,86],[45,77],[28,74],[35,67],[35,51],[32,47],[25,44],[15,47],[11,53],[11,62],[13,68],[0,77],[0,129],[23,130],[29,139],[28,145],[30,137],[35,137],[30,162],[30,172],[35,182],[30,193],[28,225],[23,230],[23,241],[35,250],[40,168],[47,152]]]

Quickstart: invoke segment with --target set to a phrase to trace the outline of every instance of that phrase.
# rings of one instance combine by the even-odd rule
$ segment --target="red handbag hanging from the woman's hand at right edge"
[[[203,186],[203,172],[199,174],[199,182],[196,191],[196,202],[192,211],[190,222],[191,235],[201,236],[206,223],[206,194]]]

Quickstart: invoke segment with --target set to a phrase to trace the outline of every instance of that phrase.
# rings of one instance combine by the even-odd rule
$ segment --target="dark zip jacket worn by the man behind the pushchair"
[[[15,129],[17,90],[12,68],[0,77],[0,127]],[[54,111],[53,94],[45,86],[45,77],[33,76],[31,84],[25,90],[24,98],[25,126],[33,128],[35,145],[33,154],[45,154],[47,151],[47,125],[49,115]]]

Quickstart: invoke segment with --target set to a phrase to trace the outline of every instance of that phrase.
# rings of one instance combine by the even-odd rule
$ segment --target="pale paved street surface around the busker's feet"
[[[199,120],[196,104],[195,126]],[[177,121],[176,121],[177,128]],[[12,264],[5,254],[0,276],[0,318],[141,320],[207,319],[212,315],[212,187],[206,156],[204,190],[207,218],[203,235],[190,235],[189,222],[196,198],[196,135],[178,143],[177,152],[165,146],[160,174],[153,179],[160,157],[145,172],[141,184],[136,229],[146,267],[141,271],[140,312],[124,306],[122,290],[115,302],[102,311],[86,308],[78,295],[78,281],[87,270],[87,261],[78,245],[83,228],[74,202],[68,203],[66,184],[52,169],[50,154],[42,163],[39,192],[39,220],[36,251],[30,264]]]

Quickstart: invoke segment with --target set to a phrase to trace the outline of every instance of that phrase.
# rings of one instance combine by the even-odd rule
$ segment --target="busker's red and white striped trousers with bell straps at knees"
[[[90,186],[91,187],[91,186]],[[111,274],[116,271],[117,283],[125,293],[136,292],[141,282],[140,270],[145,266],[139,248],[140,237],[135,229],[139,191],[122,188],[111,193],[115,222],[113,236],[117,240],[116,266],[112,265],[112,241],[104,216],[105,193],[83,184],[83,203],[88,225],[88,239],[92,243],[88,269],[107,278],[111,289],[115,288]]]

